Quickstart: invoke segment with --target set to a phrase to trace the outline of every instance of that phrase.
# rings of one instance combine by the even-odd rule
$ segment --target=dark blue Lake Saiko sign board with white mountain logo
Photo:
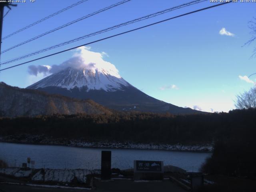
[[[162,180],[164,162],[134,160],[134,180]]]

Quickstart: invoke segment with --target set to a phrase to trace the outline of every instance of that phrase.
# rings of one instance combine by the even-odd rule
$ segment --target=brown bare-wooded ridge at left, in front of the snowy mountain
[[[37,116],[50,114],[111,114],[112,111],[92,100],[78,100],[40,90],[12,87],[0,82],[0,115]]]

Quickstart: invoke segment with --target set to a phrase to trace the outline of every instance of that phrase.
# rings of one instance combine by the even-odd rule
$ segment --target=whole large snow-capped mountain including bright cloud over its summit
[[[202,113],[148,96],[124,80],[116,67],[104,61],[100,53],[85,48],[80,50],[80,54],[70,60],[58,66],[48,67],[52,74],[28,86],[27,89],[37,89],[71,98],[91,99],[120,111]]]

